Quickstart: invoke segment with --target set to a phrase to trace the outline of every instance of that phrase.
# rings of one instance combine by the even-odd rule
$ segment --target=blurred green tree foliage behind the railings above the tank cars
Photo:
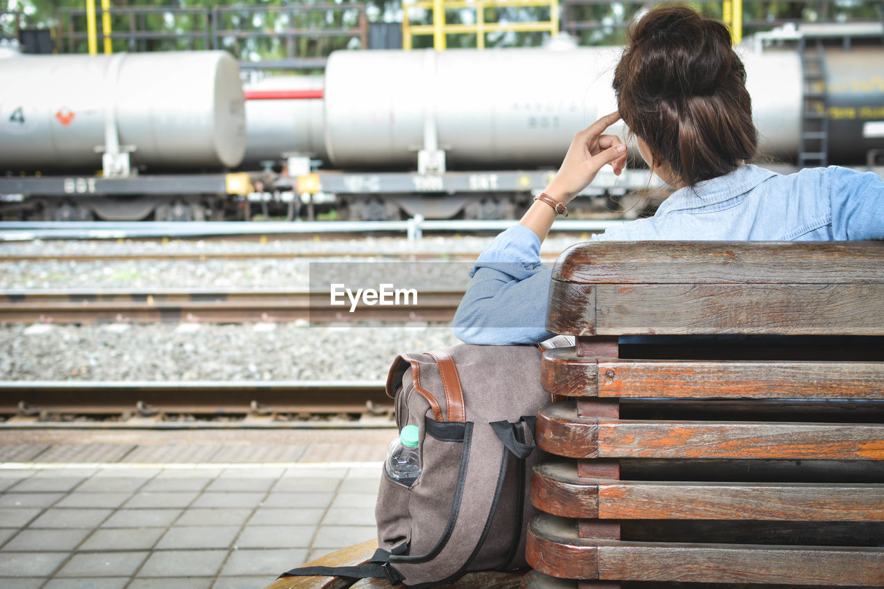
[[[98,10],[101,1],[95,0]],[[113,0],[112,28],[117,34],[138,32],[137,37],[118,38],[115,51],[225,49],[246,60],[284,57],[320,57],[331,50],[362,48],[365,40],[355,32],[362,20],[401,22],[400,0],[352,0],[337,4],[331,11],[309,10],[310,4],[330,4],[329,0],[293,3],[286,0],[253,0],[219,6],[208,0]],[[86,42],[72,34],[86,32],[86,3],[76,0],[11,0],[9,8],[23,12],[22,25],[52,27],[57,31],[59,50],[84,52]],[[572,4],[560,0],[561,26],[583,45],[618,44],[636,15],[650,4],[641,0]],[[721,3],[691,3],[707,15],[720,18]],[[351,6],[347,8],[347,6]],[[357,6],[353,8],[352,6]],[[100,13],[100,12],[99,12]],[[431,11],[412,8],[412,24],[432,24]],[[486,8],[486,22],[548,20],[549,7]],[[785,21],[884,19],[884,1],[813,0],[811,2],[743,2],[744,34],[766,30]],[[474,9],[447,10],[446,22],[472,24]],[[569,25],[571,25],[569,27]],[[10,34],[11,19],[0,18],[0,34]],[[101,18],[98,32],[102,32]],[[537,46],[548,33],[486,34],[486,47]],[[101,37],[99,37],[101,43]],[[475,34],[452,34],[448,47],[476,47]],[[432,36],[415,36],[415,48],[431,47]]]

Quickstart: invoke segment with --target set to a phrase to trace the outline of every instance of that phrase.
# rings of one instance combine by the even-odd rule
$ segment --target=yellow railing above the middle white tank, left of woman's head
[[[526,6],[549,6],[550,19],[530,22],[485,22],[486,8],[522,8]],[[433,24],[412,25],[408,19],[408,10],[423,8],[432,11]],[[471,9],[476,11],[476,23],[472,25],[446,24],[445,11],[453,9]],[[476,47],[485,48],[485,34],[504,31],[549,31],[559,32],[559,1],[558,0],[419,0],[414,3],[402,4],[402,49],[412,48],[415,35],[433,35],[433,47],[436,50],[446,48],[446,34],[476,34]]]

